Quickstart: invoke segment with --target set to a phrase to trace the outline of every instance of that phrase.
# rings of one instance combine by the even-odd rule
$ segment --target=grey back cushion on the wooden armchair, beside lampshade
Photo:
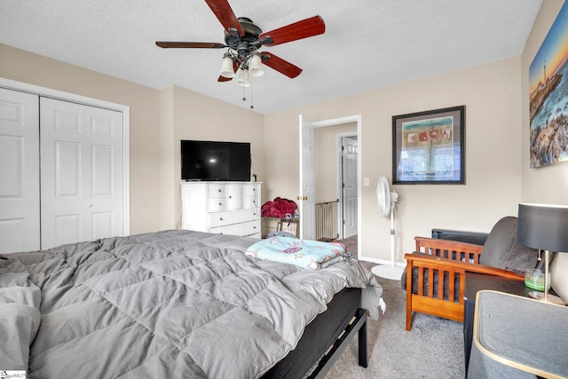
[[[483,252],[479,257],[481,265],[490,265],[497,268],[505,268],[505,261],[509,257],[510,250],[517,241],[517,217],[507,216],[497,221],[487,236],[483,245]]]

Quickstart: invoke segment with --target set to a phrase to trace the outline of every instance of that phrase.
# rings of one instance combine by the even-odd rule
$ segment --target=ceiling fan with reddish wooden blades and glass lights
[[[158,41],[162,48],[227,49],[218,82],[228,82],[236,76],[237,84],[248,87],[248,75],[264,74],[262,64],[273,68],[289,78],[302,73],[302,68],[281,59],[272,52],[258,51],[262,46],[274,46],[299,39],[318,36],[326,31],[326,24],[319,16],[300,20],[282,28],[263,32],[246,18],[237,18],[227,0],[205,0],[221,25],[225,28],[225,43],[167,42]]]

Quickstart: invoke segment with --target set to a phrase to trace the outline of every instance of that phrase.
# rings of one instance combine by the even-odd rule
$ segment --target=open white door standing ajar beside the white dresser
[[[300,114],[300,238],[316,238],[315,127]]]

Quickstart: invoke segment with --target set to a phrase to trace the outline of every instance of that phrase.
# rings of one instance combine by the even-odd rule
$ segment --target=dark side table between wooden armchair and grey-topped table
[[[469,354],[473,338],[473,318],[476,308],[477,291],[492,289],[512,295],[527,296],[533,289],[525,286],[525,280],[505,279],[499,276],[468,272],[465,275],[465,298],[463,306],[463,355],[465,356],[466,376],[469,367]]]

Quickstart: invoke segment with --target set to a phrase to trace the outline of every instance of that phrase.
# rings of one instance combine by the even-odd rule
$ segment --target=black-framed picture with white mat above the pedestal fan
[[[392,183],[465,183],[465,106],[392,116]]]

